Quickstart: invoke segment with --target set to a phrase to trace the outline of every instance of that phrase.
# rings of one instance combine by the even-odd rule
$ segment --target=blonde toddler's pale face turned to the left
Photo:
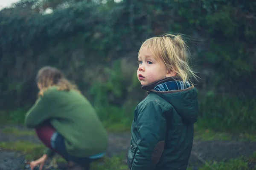
[[[172,73],[167,71],[164,63],[155,59],[147,46],[140,49],[138,60],[139,68],[137,70],[137,77],[142,86],[151,84],[164,77],[173,76]]]

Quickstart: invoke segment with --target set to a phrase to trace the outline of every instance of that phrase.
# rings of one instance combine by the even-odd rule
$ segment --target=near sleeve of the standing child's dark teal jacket
[[[153,170],[163,153],[166,118],[163,105],[151,101],[138,109],[137,131],[140,139],[131,170]]]

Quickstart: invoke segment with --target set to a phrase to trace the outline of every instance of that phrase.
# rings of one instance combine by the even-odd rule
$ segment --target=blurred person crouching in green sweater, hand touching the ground
[[[108,145],[106,130],[95,110],[56,68],[40,69],[36,82],[38,100],[27,112],[25,124],[36,130],[47,150],[30,162],[31,169],[39,165],[41,170],[47,158],[58,153],[88,170],[92,161],[104,156]]]

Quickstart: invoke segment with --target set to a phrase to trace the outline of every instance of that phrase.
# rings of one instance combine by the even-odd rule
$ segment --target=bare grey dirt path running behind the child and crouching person
[[[28,130],[24,127],[15,126],[20,130]],[[109,133],[108,156],[119,153],[126,153],[129,147],[130,133]],[[0,128],[0,141],[30,141],[40,143],[36,136],[13,135],[3,133],[3,127]],[[192,153],[199,155],[204,160],[224,160],[237,158],[239,156],[250,156],[256,151],[256,142],[254,141],[198,141],[195,140]],[[0,148],[0,170],[21,170],[24,157],[22,154],[13,151],[1,151]],[[191,155],[190,164],[201,164],[201,161],[194,154]]]

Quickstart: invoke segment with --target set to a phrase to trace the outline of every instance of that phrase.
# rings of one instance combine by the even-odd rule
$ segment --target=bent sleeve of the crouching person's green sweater
[[[25,125],[28,128],[35,128],[42,122],[52,117],[52,107],[54,99],[48,95],[44,95],[35,102],[25,115]]]

